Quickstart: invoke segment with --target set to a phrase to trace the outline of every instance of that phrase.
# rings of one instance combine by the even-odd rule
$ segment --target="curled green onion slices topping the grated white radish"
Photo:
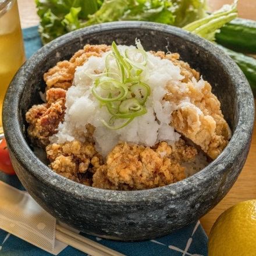
[[[94,79],[92,93],[105,105],[112,117],[102,123],[112,130],[128,125],[137,116],[147,113],[145,102],[150,95],[150,87],[141,82],[141,73],[147,65],[147,53],[139,40],[137,48],[126,49],[122,55],[115,42],[112,52],[106,56],[105,72]]]

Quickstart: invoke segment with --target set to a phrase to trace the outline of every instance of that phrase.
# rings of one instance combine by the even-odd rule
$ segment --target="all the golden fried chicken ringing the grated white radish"
[[[47,102],[32,106],[26,113],[31,141],[46,147],[49,167],[54,172],[87,186],[142,190],[184,179],[185,166],[195,160],[198,151],[182,139],[172,146],[165,141],[153,147],[119,143],[104,161],[95,150],[95,127],[87,123],[86,142],[73,140],[49,144],[49,136],[55,134],[59,123],[63,122],[66,90],[72,86],[76,67],[83,65],[90,56],[101,56],[110,49],[107,45],[85,45],[69,61],[58,62],[44,74]],[[231,132],[223,118],[220,102],[211,92],[211,85],[200,80],[200,73],[188,63],[180,61],[179,54],[151,53],[179,66],[183,76],[181,81],[166,85],[168,93],[163,99],[175,106],[170,125],[215,159],[226,147]]]

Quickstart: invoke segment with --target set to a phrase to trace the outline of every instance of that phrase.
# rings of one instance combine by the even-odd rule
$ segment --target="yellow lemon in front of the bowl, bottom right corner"
[[[209,234],[209,256],[256,255],[256,200],[227,209]]]

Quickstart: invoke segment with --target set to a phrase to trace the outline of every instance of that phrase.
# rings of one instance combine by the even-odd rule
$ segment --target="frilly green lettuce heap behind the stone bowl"
[[[205,0],[35,0],[45,44],[69,31],[118,20],[182,27],[205,16]]]

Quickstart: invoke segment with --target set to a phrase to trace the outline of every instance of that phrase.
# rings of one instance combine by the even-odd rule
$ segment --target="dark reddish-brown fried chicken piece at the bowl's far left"
[[[56,128],[64,118],[66,91],[61,88],[51,88],[47,91],[46,98],[47,103],[34,105],[26,113],[29,137],[40,147],[49,144],[49,136],[57,132]]]

